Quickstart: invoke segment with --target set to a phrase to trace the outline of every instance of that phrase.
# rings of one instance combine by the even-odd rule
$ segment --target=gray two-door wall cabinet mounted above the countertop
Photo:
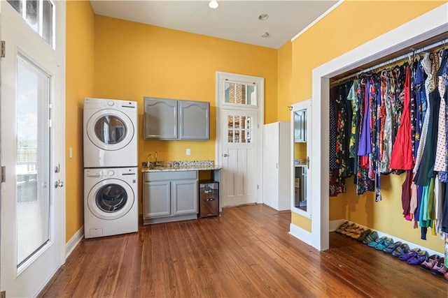
[[[210,103],[144,98],[144,138],[210,140]]]

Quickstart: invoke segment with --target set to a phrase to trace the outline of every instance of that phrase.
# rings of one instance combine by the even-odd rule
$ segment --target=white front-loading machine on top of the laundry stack
[[[137,102],[84,98],[84,167],[137,167]]]

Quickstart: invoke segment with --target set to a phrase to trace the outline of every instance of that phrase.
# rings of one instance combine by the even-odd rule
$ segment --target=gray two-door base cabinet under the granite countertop
[[[197,172],[144,173],[144,223],[197,218]]]

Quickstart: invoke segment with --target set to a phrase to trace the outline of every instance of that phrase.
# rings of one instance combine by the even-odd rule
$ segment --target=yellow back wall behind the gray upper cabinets
[[[94,50],[95,95],[139,103],[140,165],[154,151],[159,161],[214,160],[216,71],[264,77],[265,122],[276,121],[276,50],[100,15]],[[209,101],[210,140],[144,140],[144,96]]]

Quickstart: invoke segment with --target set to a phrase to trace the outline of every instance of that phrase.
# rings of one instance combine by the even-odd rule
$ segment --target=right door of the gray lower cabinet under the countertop
[[[197,214],[197,180],[172,181],[173,215]]]

